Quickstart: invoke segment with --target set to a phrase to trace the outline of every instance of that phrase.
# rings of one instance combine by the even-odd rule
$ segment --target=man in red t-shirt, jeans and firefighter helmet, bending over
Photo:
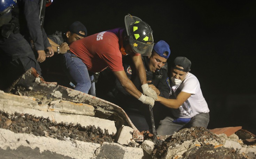
[[[76,85],[76,90],[88,93],[95,89],[93,73],[109,67],[127,92],[142,103],[153,106],[157,95],[148,87],[141,59],[141,55],[149,56],[152,52],[153,31],[147,23],[131,15],[125,16],[125,26],[126,29],[111,29],[73,42],[68,53],[64,54],[65,72]],[[122,57],[126,55],[132,56],[144,95],[124,71]]]

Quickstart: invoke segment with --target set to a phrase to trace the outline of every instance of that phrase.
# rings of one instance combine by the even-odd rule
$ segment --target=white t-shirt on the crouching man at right
[[[173,85],[173,83],[171,84]],[[176,95],[178,95],[180,91],[191,94],[178,109],[172,109],[172,114],[175,117],[192,118],[196,114],[210,112],[207,102],[203,97],[200,83],[194,74],[188,72],[184,81],[180,83],[180,85],[173,85],[172,89]]]

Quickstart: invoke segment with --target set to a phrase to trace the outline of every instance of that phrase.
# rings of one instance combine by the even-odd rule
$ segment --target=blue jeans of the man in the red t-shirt
[[[93,73],[89,75],[85,63],[75,54],[67,52],[62,56],[63,71],[69,80],[76,86],[75,90],[96,96],[95,82]]]

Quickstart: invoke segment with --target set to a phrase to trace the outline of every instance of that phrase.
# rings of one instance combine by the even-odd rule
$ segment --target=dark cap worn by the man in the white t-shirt
[[[176,67],[177,65],[183,67],[184,69],[177,68]],[[190,71],[190,67],[191,67],[191,61],[188,60],[186,57],[179,56],[175,58],[173,61],[173,68],[177,70],[188,72]]]

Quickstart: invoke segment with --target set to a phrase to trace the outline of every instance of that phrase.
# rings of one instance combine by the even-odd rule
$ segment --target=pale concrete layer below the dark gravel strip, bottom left
[[[1,152],[10,150],[20,151],[18,150],[19,148],[27,147],[31,148],[32,152],[30,152],[30,154],[33,154],[33,151],[38,153],[39,149],[39,154],[49,151],[51,153],[60,154],[63,158],[91,158],[94,156],[94,151],[100,147],[100,144],[96,143],[81,142],[70,139],[61,141],[53,138],[34,136],[33,134],[14,133],[5,129],[0,129],[0,139]],[[2,157],[5,158],[1,153],[1,158]]]

